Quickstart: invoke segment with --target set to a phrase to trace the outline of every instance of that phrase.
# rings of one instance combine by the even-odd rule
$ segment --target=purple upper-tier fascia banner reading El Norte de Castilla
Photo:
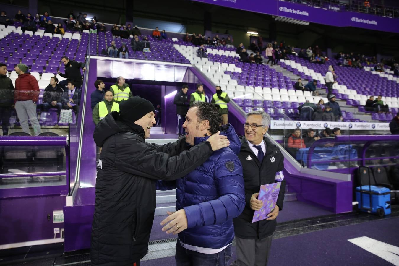
[[[385,18],[381,16],[357,13],[357,12],[336,12],[334,10],[324,10],[302,4],[294,4],[279,0],[192,0],[229,8],[237,8],[257,13],[270,14],[274,16],[284,16],[297,20],[304,20],[318,24],[325,24],[335,27],[357,27],[382,32],[399,33],[399,19]]]

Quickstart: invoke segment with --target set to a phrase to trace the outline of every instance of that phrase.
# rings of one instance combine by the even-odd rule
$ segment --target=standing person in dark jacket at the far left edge
[[[3,136],[8,136],[11,109],[14,108],[14,85],[7,77],[7,65],[4,63],[0,63],[0,81],[0,119]]]

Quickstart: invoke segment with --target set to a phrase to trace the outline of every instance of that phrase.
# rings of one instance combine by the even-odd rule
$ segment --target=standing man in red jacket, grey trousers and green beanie
[[[36,78],[28,72],[28,66],[18,64],[14,68],[18,74],[15,81],[15,110],[20,120],[22,131],[30,134],[28,118],[32,124],[35,135],[41,133],[38,116],[36,114],[36,102],[39,98],[39,85]]]

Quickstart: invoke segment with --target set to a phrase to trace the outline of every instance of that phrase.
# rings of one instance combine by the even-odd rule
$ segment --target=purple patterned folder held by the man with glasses
[[[277,197],[279,197],[281,182],[261,185],[258,199],[263,201],[263,207],[259,211],[255,211],[252,223],[267,218],[267,215],[273,211],[276,206]]]

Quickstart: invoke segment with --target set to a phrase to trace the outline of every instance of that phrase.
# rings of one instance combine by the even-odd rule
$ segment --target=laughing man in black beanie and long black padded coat
[[[138,96],[119,104],[94,130],[102,147],[97,163],[91,265],[133,265],[147,254],[157,180],[176,180],[203,164],[212,152],[229,146],[212,135],[196,146],[185,138],[165,145],[148,144],[156,123],[154,106]]]

